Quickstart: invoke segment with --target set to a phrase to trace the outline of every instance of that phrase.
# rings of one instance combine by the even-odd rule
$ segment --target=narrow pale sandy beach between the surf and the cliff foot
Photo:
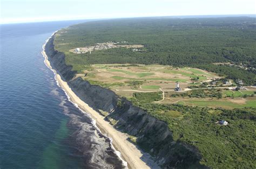
[[[57,32],[57,31],[56,31]],[[52,36],[55,32],[52,34]],[[51,37],[52,37],[51,36]],[[51,38],[50,37],[50,38]],[[49,38],[49,39],[50,39]],[[48,40],[49,40],[48,39]],[[46,40],[45,44],[48,42]],[[104,117],[100,115],[97,111],[93,110],[82,101],[69,87],[68,83],[62,80],[62,77],[56,72],[55,69],[52,68],[48,56],[45,53],[45,44],[43,45],[42,54],[45,58],[45,65],[53,71],[55,74],[55,79],[57,81],[58,86],[60,86],[68,96],[69,100],[84,113],[89,114],[93,121],[95,122],[96,128],[102,132],[106,137],[109,137],[112,140],[112,149],[115,151],[117,156],[123,161],[123,165],[129,168],[151,168],[149,165],[154,166],[154,168],[158,168],[156,164],[154,164],[153,160],[149,157],[145,157],[145,154],[140,152],[137,149],[136,145],[132,144],[127,140],[128,136],[125,133],[122,133],[116,129],[107,121],[104,120]],[[97,125],[96,125],[97,123]],[[117,150],[116,150],[117,149]],[[143,160],[142,160],[143,158]],[[127,162],[126,162],[127,161]],[[145,163],[146,161],[147,163]],[[149,165],[147,165],[149,164]]]

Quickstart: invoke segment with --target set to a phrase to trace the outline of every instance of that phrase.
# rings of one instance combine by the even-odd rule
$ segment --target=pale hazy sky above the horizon
[[[0,2],[0,23],[256,13],[256,0],[0,0]]]

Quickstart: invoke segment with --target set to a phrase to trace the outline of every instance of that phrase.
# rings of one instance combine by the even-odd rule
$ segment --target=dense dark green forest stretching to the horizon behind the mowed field
[[[89,64],[161,64],[191,66],[212,72],[229,73],[253,85],[255,73],[237,68],[208,65],[213,62],[243,62],[253,66],[256,60],[256,20],[250,17],[227,18],[133,18],[112,19],[73,25],[56,34],[55,48],[65,52],[66,63]],[[144,45],[141,51],[112,48],[91,54],[74,54],[76,47],[107,41]],[[200,65],[199,65],[200,64]],[[204,65],[201,65],[204,64]],[[207,67],[207,65],[209,67]],[[230,73],[232,72],[232,73]],[[241,74],[245,74],[243,77]],[[250,80],[246,80],[251,77]]]

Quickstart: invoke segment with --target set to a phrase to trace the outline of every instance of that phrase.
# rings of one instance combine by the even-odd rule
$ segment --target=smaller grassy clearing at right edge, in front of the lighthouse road
[[[217,89],[194,89],[183,92],[165,91],[165,99],[159,103],[161,104],[183,104],[199,107],[212,108],[244,108],[256,107],[256,97],[254,93],[256,89],[250,88],[248,90],[225,90]],[[234,96],[232,96],[234,93]],[[227,97],[226,94],[230,94]]]

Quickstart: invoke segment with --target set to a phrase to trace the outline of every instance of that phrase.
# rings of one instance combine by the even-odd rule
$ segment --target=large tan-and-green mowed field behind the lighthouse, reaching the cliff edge
[[[176,87],[187,88],[192,82],[220,78],[214,73],[208,73],[196,68],[174,68],[165,65],[142,64],[95,64],[73,67],[78,72],[77,77],[90,81],[93,85],[109,88],[122,96],[131,97],[132,91],[170,90]]]

